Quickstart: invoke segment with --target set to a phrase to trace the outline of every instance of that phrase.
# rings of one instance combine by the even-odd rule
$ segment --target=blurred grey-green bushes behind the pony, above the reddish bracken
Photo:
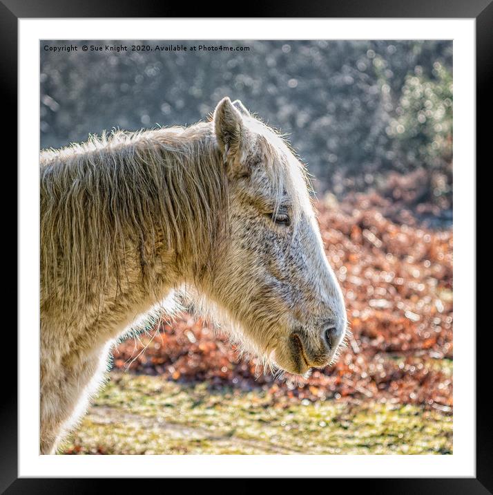
[[[414,203],[452,208],[452,41],[179,41],[250,49],[81,51],[134,43],[157,41],[70,41],[75,53],[43,48],[64,41],[41,41],[42,148],[113,127],[193,124],[229,95],[287,133],[318,193],[381,193],[390,172],[414,172]]]

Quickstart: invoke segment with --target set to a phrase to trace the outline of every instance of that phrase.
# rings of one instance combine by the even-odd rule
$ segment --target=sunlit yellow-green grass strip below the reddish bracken
[[[61,454],[452,454],[452,416],[111,373]]]

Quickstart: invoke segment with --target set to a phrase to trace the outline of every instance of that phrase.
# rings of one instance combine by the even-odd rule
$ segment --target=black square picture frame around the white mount
[[[491,162],[486,158],[486,148],[492,140],[492,115],[490,92],[493,88],[493,3],[492,0],[351,0],[329,3],[327,0],[304,0],[302,2],[267,0],[254,6],[243,6],[246,16],[238,17],[332,17],[332,18],[471,18],[476,19],[476,163]],[[242,8],[242,6],[240,6]],[[3,140],[8,142],[10,153],[17,158],[17,30],[18,19],[22,18],[73,18],[73,17],[188,17],[191,7],[186,3],[166,3],[152,0],[0,0],[0,64],[1,64],[1,108],[9,115],[8,127],[3,131]],[[239,10],[239,9],[238,9]],[[220,3],[200,2],[193,6],[194,17],[234,17],[233,10]],[[237,11],[238,12],[238,11]],[[460,136],[455,136],[460,138]],[[14,160],[9,157],[9,162]],[[480,167],[470,164],[471,173]],[[17,181],[17,179],[16,179]],[[486,187],[483,181],[483,187]],[[476,185],[476,198],[483,198]],[[17,183],[17,187],[22,187]],[[12,204],[10,200],[10,205]],[[11,206],[10,206],[11,209]],[[4,210],[9,211],[9,210]],[[484,218],[485,208],[476,200],[476,225],[480,214]],[[487,224],[479,224],[487,225]],[[477,256],[486,243],[477,243]],[[17,248],[19,246],[17,245]],[[485,275],[486,276],[486,275]],[[476,288],[471,288],[476,290]],[[476,303],[477,307],[477,303]],[[465,330],[474,335],[476,321]],[[7,328],[4,329],[7,332]],[[463,337],[461,337],[463,338]],[[476,477],[475,478],[352,478],[328,481],[327,489],[364,489],[379,494],[493,494],[493,427],[491,426],[490,362],[491,331],[488,326],[478,327],[476,333]],[[17,352],[14,352],[14,338],[9,339],[8,355],[14,359],[9,368],[15,369]],[[91,478],[18,478],[17,471],[17,382],[4,380],[2,387],[3,404],[0,409],[0,490],[9,494],[17,493],[74,493],[89,492],[93,486],[113,492],[116,485],[125,483],[124,489],[131,489],[133,481],[124,479]],[[385,462],[383,460],[383,462]],[[227,475],[225,473],[225,475]],[[276,473],[275,476],[282,477]],[[389,473],[392,476],[392,473]],[[142,487],[142,480],[137,480]],[[348,487],[349,483],[349,487]],[[344,485],[342,485],[344,484]],[[340,485],[340,486],[339,486]],[[189,487],[190,485],[187,485]],[[235,483],[235,490],[240,485]],[[163,488],[163,487],[162,487]],[[223,488],[221,488],[223,489]],[[309,487],[305,486],[305,489]]]

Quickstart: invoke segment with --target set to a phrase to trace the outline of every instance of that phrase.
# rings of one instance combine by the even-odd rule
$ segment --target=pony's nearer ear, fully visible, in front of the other
[[[215,107],[215,137],[224,152],[224,157],[238,156],[244,139],[244,125],[241,113],[235,109],[229,97],[224,97]]]

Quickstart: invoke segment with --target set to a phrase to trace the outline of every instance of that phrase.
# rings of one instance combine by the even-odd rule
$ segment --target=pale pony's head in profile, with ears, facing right
[[[211,124],[228,181],[228,218],[202,290],[265,364],[298,375],[326,366],[347,319],[305,168],[238,100],[221,100]]]

